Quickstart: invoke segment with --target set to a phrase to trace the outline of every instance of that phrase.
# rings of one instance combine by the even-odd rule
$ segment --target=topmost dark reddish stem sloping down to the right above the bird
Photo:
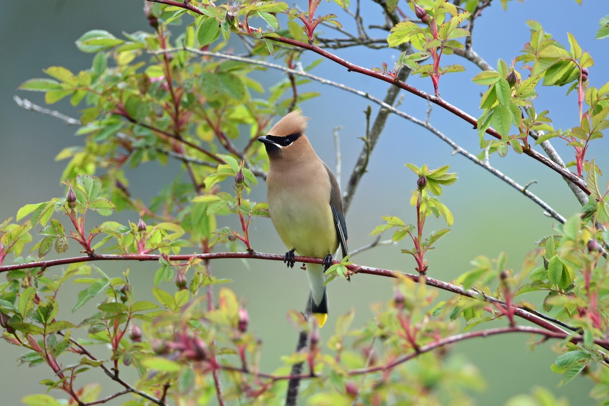
[[[200,15],[204,14],[201,10],[199,10],[197,7],[194,7],[194,5],[190,4],[189,2],[180,2],[180,1],[174,1],[174,0],[147,0],[147,1],[168,4],[168,5],[175,5],[176,7],[181,7],[183,9],[190,10],[190,11],[195,12]],[[251,27],[247,27],[247,28],[248,28],[248,32],[258,33],[258,30],[252,29]],[[414,86],[410,86],[407,83],[401,82],[400,80],[396,79],[395,75],[387,75],[384,72],[375,72],[371,69],[362,68],[362,66],[354,65],[353,63],[351,63],[347,60],[344,60],[343,58],[340,58],[337,55],[334,55],[331,52],[326,51],[325,49],[320,48],[319,46],[315,45],[314,43],[304,43],[302,41],[292,40],[291,38],[286,38],[286,37],[281,37],[279,35],[276,35],[276,33],[273,33],[272,36],[262,35],[261,38],[264,40],[276,41],[278,43],[283,43],[283,44],[299,47],[301,49],[308,49],[309,51],[315,52],[315,54],[319,54],[328,60],[334,61],[334,62],[338,63],[339,65],[344,66],[345,68],[347,68],[348,72],[361,73],[361,74],[373,77],[375,79],[379,79],[379,80],[383,80],[384,82],[391,83],[392,85],[398,86],[399,88],[404,89],[407,92],[414,94],[415,96],[421,97],[422,99],[428,100],[429,102],[432,102],[432,103],[444,108],[445,110],[450,111],[452,114],[456,115],[457,117],[462,118],[466,122],[473,125],[474,128],[477,128],[477,126],[478,126],[478,121],[477,121],[476,117],[470,116],[470,114],[465,113],[465,111],[460,110],[460,108],[452,105],[449,102],[446,102],[446,100],[443,100],[442,97],[440,97],[439,95],[433,96],[429,93],[426,93],[420,89],[415,88]],[[487,128],[487,130],[485,132],[488,135],[495,137],[496,139],[501,139],[501,135],[492,127]],[[582,191],[584,191],[586,194],[590,195],[590,191],[586,187],[585,182],[582,180],[582,178],[578,177],[575,173],[572,173],[570,170],[566,169],[565,167],[561,167],[560,165],[558,165],[551,159],[547,158],[546,156],[541,155],[540,153],[538,153],[537,151],[535,151],[533,149],[530,149],[526,145],[523,145],[523,152],[526,155],[529,155],[531,158],[537,159],[537,161],[540,161],[540,163],[544,164],[545,166],[549,167],[550,169],[554,170],[555,172],[560,173],[560,175],[562,177],[564,177],[567,180],[571,181],[572,183],[576,184],[580,189],[582,189]]]

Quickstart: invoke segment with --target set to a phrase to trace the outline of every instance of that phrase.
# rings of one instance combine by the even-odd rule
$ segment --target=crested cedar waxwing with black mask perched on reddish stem
[[[328,318],[324,273],[339,243],[347,255],[347,226],[339,184],[306,138],[306,121],[300,111],[292,111],[258,141],[269,154],[267,200],[270,219],[289,250],[284,262],[294,267],[294,251],[324,258],[323,265],[307,265],[311,312],[321,327]]]

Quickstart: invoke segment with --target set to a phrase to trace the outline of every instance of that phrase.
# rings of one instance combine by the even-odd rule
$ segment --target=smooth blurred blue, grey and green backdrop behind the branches
[[[593,1],[583,3],[577,5],[569,0],[530,0],[524,4],[509,2],[508,10],[504,11],[499,2],[496,2],[476,22],[474,48],[493,66],[498,58],[509,64],[529,40],[525,21],[536,19],[546,32],[553,33],[561,43],[567,43],[566,32],[575,35],[582,48],[590,52],[595,61],[588,76],[591,84],[601,86],[609,79],[606,73],[609,71],[609,40],[597,41],[594,40],[594,35],[599,18],[607,13],[607,4]],[[299,4],[306,8],[306,2],[301,1]],[[406,8],[403,1],[400,1],[400,5]],[[3,41],[0,43],[0,54],[4,58],[0,64],[0,220],[14,217],[17,209],[27,203],[62,196],[65,191],[60,184],[60,177],[65,162],[57,162],[54,157],[63,147],[83,144],[83,139],[74,136],[76,127],[67,127],[57,119],[17,107],[13,102],[15,94],[44,105],[42,94],[18,91],[19,84],[33,77],[44,77],[42,69],[49,66],[65,66],[76,72],[90,67],[92,55],[80,53],[74,41],[91,29],[108,30],[117,37],[121,36],[121,32],[149,30],[142,10],[143,1],[140,0],[34,0],[2,4],[0,38]],[[348,21],[348,16],[337,9],[336,5],[322,2],[320,13],[329,12],[337,13],[340,21]],[[362,4],[362,15],[379,15],[378,6],[365,2]],[[382,23],[382,19],[377,17],[364,22],[378,24]],[[386,36],[380,30],[370,32],[376,37]],[[174,33],[177,35],[179,29],[174,28]],[[368,68],[380,66],[383,61],[391,66],[397,55],[394,51],[374,53],[351,49],[336,53]],[[316,58],[305,54],[303,61],[306,65]],[[479,115],[477,107],[480,93],[485,88],[470,82],[479,69],[459,57],[446,58],[443,63],[462,63],[467,71],[442,77],[442,97],[474,116]],[[384,97],[386,91],[384,83],[348,73],[346,69],[329,61],[318,66],[314,73],[377,97]],[[282,80],[283,75],[275,71],[259,72],[256,79],[266,86],[272,86]],[[409,83],[432,92],[429,79],[412,79]],[[332,168],[335,157],[333,128],[342,127],[340,143],[344,186],[362,147],[358,138],[364,135],[365,116],[362,111],[368,102],[317,83],[307,85],[304,90],[322,93],[321,97],[304,103],[301,108],[306,116],[311,117],[308,136],[312,144],[318,155]],[[578,120],[576,94],[566,97],[565,93],[566,89],[541,89],[537,100],[538,111],[551,111],[555,128],[572,127]],[[77,109],[68,102],[59,102],[51,108],[76,116]],[[373,114],[376,114],[378,107],[373,105],[372,108]],[[423,118],[428,104],[425,100],[405,93],[401,109]],[[477,134],[470,125],[454,119],[437,107],[431,113],[431,123],[465,149],[478,152]],[[569,147],[561,145],[561,142],[554,144],[565,161],[572,159]],[[596,158],[597,164],[603,169],[608,163],[608,144],[605,139],[595,141],[595,144],[590,151],[590,158]],[[351,250],[371,242],[368,234],[381,223],[381,215],[398,215],[408,222],[414,222],[414,211],[408,201],[416,179],[410,170],[404,168],[404,163],[412,162],[418,166],[426,163],[431,167],[450,164],[452,171],[457,172],[459,181],[454,186],[445,188],[442,201],[451,209],[456,220],[451,233],[438,244],[435,251],[429,253],[428,275],[451,281],[470,269],[469,262],[475,256],[484,254],[494,257],[501,251],[509,254],[510,265],[518,269],[524,255],[535,248],[533,241],[551,234],[552,220],[544,217],[541,209],[523,195],[462,156],[451,155],[451,152],[448,145],[421,128],[399,117],[390,117],[371,157],[368,173],[362,180],[347,215]],[[504,159],[493,156],[491,164],[521,184],[537,180],[538,183],[530,190],[565,217],[579,211],[579,205],[566,184],[537,161],[510,152]],[[167,166],[143,164],[128,173],[132,194],[143,201],[149,201],[178,173],[180,167],[175,161],[170,161]],[[264,183],[259,184],[251,197],[255,201],[266,199]],[[119,222],[136,221],[138,215],[135,212],[123,212],[114,215],[113,219]],[[96,219],[91,217],[88,220],[90,225],[94,225]],[[440,227],[441,224],[431,222],[430,226]],[[269,219],[257,219],[251,237],[254,248],[258,251],[284,252]],[[400,254],[401,248],[407,246],[379,247],[362,253],[353,260],[358,264],[414,271],[414,261]],[[76,254],[73,248],[68,252]],[[11,260],[9,258],[6,262]],[[145,295],[152,287],[156,264],[100,265],[110,275],[121,275],[127,266],[131,268],[130,279],[135,285],[136,294]],[[214,261],[212,266],[214,275],[233,279],[231,289],[247,301],[250,329],[264,343],[262,367],[271,371],[283,365],[280,355],[289,354],[294,349],[297,338],[294,327],[286,321],[286,312],[289,309],[300,310],[305,304],[308,285],[304,273],[285,270],[277,262],[250,261],[245,266],[242,261],[224,260]],[[371,317],[371,304],[384,303],[392,298],[392,286],[393,281],[389,279],[366,275],[355,276],[350,283],[342,280],[333,282],[329,287],[331,315],[328,327],[322,330],[322,338],[331,335],[336,316],[352,308],[356,309],[354,326],[360,326]],[[62,291],[65,301],[62,312],[64,317],[79,321],[94,304],[70,315],[69,309],[73,306],[80,287],[73,289],[72,292]],[[445,293],[442,293],[441,297],[443,296],[446,296]],[[536,299],[538,298],[530,298],[532,301]],[[555,390],[561,396],[568,397],[571,404],[593,404],[586,400],[591,388],[590,380],[577,377],[566,387],[558,387],[561,376],[552,374],[549,368],[555,359],[555,353],[551,350],[553,343],[539,345],[535,351],[530,352],[529,340],[530,337],[526,335],[509,335],[472,340],[454,346],[453,351],[465,354],[485,377],[487,390],[475,395],[478,404],[502,404],[514,394],[529,392],[535,385]],[[104,353],[104,349],[100,351],[100,354]],[[37,382],[49,377],[49,369],[45,366],[33,369],[27,366],[17,367],[16,358],[21,352],[21,349],[7,344],[0,346],[0,357],[4,363],[0,370],[2,404],[20,404],[24,395],[43,393],[45,390]],[[104,385],[104,393],[118,390],[118,385],[104,379],[101,374],[99,378]],[[118,404],[118,401],[113,404]]]

